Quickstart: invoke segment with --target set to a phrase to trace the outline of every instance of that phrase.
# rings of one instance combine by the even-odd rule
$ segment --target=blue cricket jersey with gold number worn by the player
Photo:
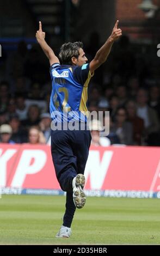
[[[87,122],[88,84],[94,75],[89,64],[83,66],[60,65],[54,63],[50,68],[52,93],[50,113],[52,120]]]

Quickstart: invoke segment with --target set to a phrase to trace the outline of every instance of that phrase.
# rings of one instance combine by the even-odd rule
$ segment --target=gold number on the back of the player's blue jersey
[[[61,88],[58,89],[58,92],[59,93],[61,93],[61,92],[64,93],[64,100],[63,100],[63,102],[61,104],[61,111],[64,111],[64,112],[71,111],[71,107],[67,107],[66,106],[67,105],[67,101],[69,99],[69,92],[68,92],[68,90],[65,87],[61,87]],[[53,101],[54,101],[54,105],[58,109],[58,107],[59,107],[59,100],[57,99],[57,93],[54,94]]]

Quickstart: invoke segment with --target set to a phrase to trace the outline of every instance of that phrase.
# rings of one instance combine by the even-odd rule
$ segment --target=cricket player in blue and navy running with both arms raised
[[[88,84],[94,71],[106,62],[114,41],[122,35],[118,23],[119,21],[116,21],[112,34],[90,63],[87,63],[82,42],[66,42],[61,46],[58,58],[45,41],[41,22],[39,31],[36,32],[36,39],[50,62],[50,113],[54,124],[51,153],[58,182],[61,189],[66,191],[63,225],[56,237],[70,237],[75,210],[83,208],[85,204],[84,169],[91,142],[90,131],[86,125]],[[74,122],[78,124],[78,129],[69,129],[69,126],[64,129],[65,125]],[[84,124],[84,129],[81,129],[81,123]]]

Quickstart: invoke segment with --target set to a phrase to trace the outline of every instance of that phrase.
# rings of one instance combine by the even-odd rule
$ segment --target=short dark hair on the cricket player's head
[[[60,47],[59,59],[63,65],[72,65],[72,57],[79,57],[79,48],[83,48],[82,42],[66,42]]]

